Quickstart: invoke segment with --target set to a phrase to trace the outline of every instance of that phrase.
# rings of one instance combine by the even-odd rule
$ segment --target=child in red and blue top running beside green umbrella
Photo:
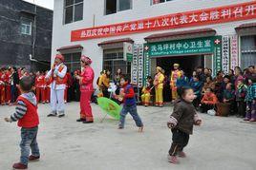
[[[125,117],[128,114],[128,112],[133,117],[136,125],[139,127],[139,132],[143,131],[143,123],[141,122],[141,119],[139,117],[139,114],[137,112],[137,104],[136,104],[136,98],[135,98],[135,92],[133,85],[130,84],[129,78],[121,78],[120,85],[122,86],[122,90],[120,90],[118,100],[123,102],[123,107],[120,113],[120,121],[118,128],[123,129]]]

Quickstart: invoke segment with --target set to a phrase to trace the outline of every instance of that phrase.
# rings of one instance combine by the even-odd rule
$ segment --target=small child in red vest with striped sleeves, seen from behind
[[[21,157],[20,162],[13,164],[13,169],[27,169],[28,161],[39,161],[40,158],[36,142],[39,117],[36,97],[32,93],[32,85],[32,78],[29,76],[20,80],[21,95],[17,99],[15,113],[10,118],[5,118],[5,121],[9,123],[18,121],[18,126],[21,127]],[[30,149],[32,150],[31,156]]]

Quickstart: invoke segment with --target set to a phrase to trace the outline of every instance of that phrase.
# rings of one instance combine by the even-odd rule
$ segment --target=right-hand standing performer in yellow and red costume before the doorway
[[[174,102],[177,97],[177,80],[181,77],[181,70],[179,69],[180,65],[179,64],[174,64],[173,65],[173,70],[171,72],[171,78],[170,78],[170,87],[172,89],[172,102]]]

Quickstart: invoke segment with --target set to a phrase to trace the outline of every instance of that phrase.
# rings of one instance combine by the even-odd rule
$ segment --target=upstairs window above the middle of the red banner
[[[105,14],[132,9],[132,0],[105,0]]]

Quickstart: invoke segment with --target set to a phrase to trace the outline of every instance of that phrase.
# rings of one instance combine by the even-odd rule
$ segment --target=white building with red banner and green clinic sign
[[[256,64],[255,23],[250,0],[55,0],[52,61],[61,52],[73,71],[82,53],[93,59],[96,77],[120,67],[139,84],[157,65],[166,74],[174,63],[187,73],[195,66],[245,68]],[[130,63],[124,42],[149,44]]]

